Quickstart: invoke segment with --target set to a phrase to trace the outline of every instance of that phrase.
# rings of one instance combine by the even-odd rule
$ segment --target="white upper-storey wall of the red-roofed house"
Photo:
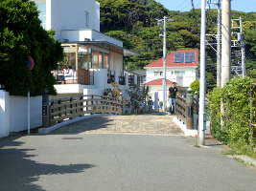
[[[162,72],[162,68],[151,68],[147,69],[147,82],[154,80],[154,79],[159,79],[163,78],[163,75],[154,75],[154,72]],[[182,74],[175,74],[175,73],[182,73]],[[183,77],[182,83],[180,83],[179,77]],[[183,86],[183,87],[189,87],[190,84],[197,79],[197,69],[181,69],[181,68],[168,68],[167,69],[167,79],[178,83],[178,85]]]

